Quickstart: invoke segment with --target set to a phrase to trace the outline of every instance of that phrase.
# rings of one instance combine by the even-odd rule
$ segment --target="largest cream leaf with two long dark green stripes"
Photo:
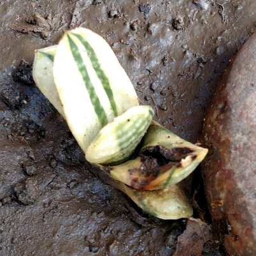
[[[65,32],[53,75],[69,128],[83,152],[106,124],[138,105],[134,87],[115,53],[89,29]]]

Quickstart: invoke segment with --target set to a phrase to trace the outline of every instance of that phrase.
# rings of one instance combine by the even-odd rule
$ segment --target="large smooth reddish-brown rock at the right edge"
[[[204,183],[215,236],[230,255],[256,255],[256,34],[232,60],[204,124]]]

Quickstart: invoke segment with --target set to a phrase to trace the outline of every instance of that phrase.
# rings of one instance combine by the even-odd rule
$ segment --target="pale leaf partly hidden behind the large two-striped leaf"
[[[54,108],[64,117],[59,93],[53,78],[53,60],[57,45],[35,50],[33,64],[33,79],[42,94],[53,104]]]

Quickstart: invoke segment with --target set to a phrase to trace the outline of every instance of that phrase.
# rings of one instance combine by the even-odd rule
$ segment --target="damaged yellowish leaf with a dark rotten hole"
[[[207,152],[208,149],[189,143],[152,122],[138,157],[118,166],[105,166],[104,170],[130,187],[154,190],[186,178]]]

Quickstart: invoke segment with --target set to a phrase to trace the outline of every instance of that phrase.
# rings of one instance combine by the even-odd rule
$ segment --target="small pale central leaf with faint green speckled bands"
[[[136,150],[153,118],[151,106],[134,106],[99,131],[85,157],[90,163],[116,165]]]

